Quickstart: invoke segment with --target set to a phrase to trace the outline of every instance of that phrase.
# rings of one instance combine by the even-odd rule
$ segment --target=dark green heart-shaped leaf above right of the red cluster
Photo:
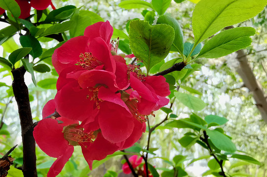
[[[166,24],[151,27],[148,22],[134,20],[130,23],[129,36],[134,56],[143,60],[148,73],[150,68],[167,57],[174,30]]]

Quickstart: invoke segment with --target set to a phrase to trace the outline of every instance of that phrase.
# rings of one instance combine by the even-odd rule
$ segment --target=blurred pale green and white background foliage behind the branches
[[[90,10],[97,13],[104,21],[110,21],[111,25],[116,28],[126,31],[126,24],[134,18],[144,19],[141,15],[141,9],[123,9],[118,6],[120,0],[52,0],[56,7],[62,7],[68,4],[80,7],[82,10]],[[191,19],[195,3],[185,0],[182,3],[171,2],[167,13],[176,18],[180,23],[185,41],[193,42],[193,32],[191,28]],[[51,10],[51,9],[50,9]],[[263,86],[267,93],[267,10],[265,9],[255,18],[238,24],[238,26],[250,26],[256,29],[256,35],[252,36],[252,45],[245,49],[247,57],[252,66],[253,72],[257,80]],[[2,24],[1,24],[2,25]],[[236,27],[236,26],[235,26]],[[17,37],[18,38],[18,37]],[[2,45],[3,50],[0,55],[5,57],[12,51],[19,48],[19,44],[14,39],[9,39],[8,42]],[[203,43],[202,42],[202,46]],[[42,40],[42,48],[52,48],[57,44],[55,41]],[[169,59],[177,58],[177,54],[169,54],[164,62]],[[231,160],[225,164],[225,171],[231,173],[246,173],[251,177],[266,177],[267,176],[267,125],[261,118],[261,115],[254,105],[252,94],[242,84],[241,78],[236,72],[238,62],[235,59],[236,55],[231,54],[219,59],[198,59],[196,63],[200,64],[200,70],[195,71],[186,80],[181,83],[180,90],[184,93],[191,93],[201,98],[206,107],[202,111],[196,112],[200,117],[206,115],[218,115],[227,118],[229,121],[222,128],[233,138],[233,142],[237,149],[250,154],[255,159],[262,162],[262,165],[251,165],[247,162]],[[49,73],[36,72],[36,80],[45,80],[45,87],[42,83],[38,83],[35,87],[31,81],[31,76],[27,73],[26,81],[29,91],[32,106],[33,119],[35,121],[42,118],[41,112],[44,104],[53,99],[56,94],[57,74],[53,69],[51,58],[42,61],[49,65],[51,71]],[[130,61],[129,61],[130,62]],[[160,66],[164,63],[152,68],[152,72],[157,73]],[[183,73],[179,73],[183,74]],[[48,80],[47,80],[48,79]],[[21,130],[19,125],[19,117],[17,113],[17,105],[12,93],[12,78],[11,73],[6,68],[0,66],[0,118],[2,127],[0,129],[0,152],[4,154],[14,145],[21,145]],[[49,84],[47,84],[49,83]],[[179,84],[179,83],[178,83]],[[177,84],[176,84],[177,85]],[[192,90],[195,89],[195,93]],[[194,91],[193,91],[194,92]],[[168,106],[167,106],[168,107]],[[178,100],[174,101],[172,114],[178,118],[188,118],[192,110],[185,107]],[[150,118],[150,124],[154,125],[166,117],[163,111],[155,113],[156,118]],[[207,159],[200,160],[193,164],[190,161],[200,156],[208,155],[208,151],[201,148],[198,144],[191,148],[183,148],[178,140],[183,137],[185,129],[168,129],[160,126],[151,136],[151,148],[158,148],[154,153],[158,157],[149,158],[149,163],[153,164],[156,169],[164,170],[170,168],[170,164],[166,159],[172,160],[176,155],[186,156],[184,166],[185,171],[191,177],[202,176],[207,171]],[[44,137],[45,138],[45,137]],[[142,147],[146,146],[147,133],[144,133],[138,142]],[[77,148],[77,147],[75,147]],[[45,177],[49,167],[55,159],[48,157],[38,147],[36,148],[37,155],[37,172],[38,177]],[[15,166],[22,165],[22,147],[19,146],[12,152],[12,157]],[[152,156],[151,156],[152,157]],[[165,159],[166,158],[166,159]],[[115,156],[107,160],[99,168],[89,174],[90,177],[102,177],[104,174],[109,174],[108,171],[114,171],[119,174],[119,177],[127,177],[121,173],[122,156]],[[123,161],[124,162],[124,161]],[[157,168],[160,167],[160,168]],[[161,169],[162,168],[162,169]],[[59,177],[86,177],[89,173],[86,161],[83,159],[79,148],[74,150],[74,154],[65,165]],[[22,173],[15,168],[11,168],[8,177],[22,177]],[[106,175],[107,177],[110,177]],[[241,176],[241,175],[240,175]],[[130,176],[128,176],[130,177]]]

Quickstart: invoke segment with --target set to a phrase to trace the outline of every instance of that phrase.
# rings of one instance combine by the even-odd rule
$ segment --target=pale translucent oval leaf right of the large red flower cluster
[[[191,94],[175,92],[174,95],[181,103],[195,111],[201,111],[206,106],[200,98]]]

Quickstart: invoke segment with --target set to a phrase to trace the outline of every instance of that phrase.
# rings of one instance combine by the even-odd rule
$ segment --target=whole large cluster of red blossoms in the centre
[[[169,102],[165,78],[127,65],[110,42],[112,33],[108,21],[98,22],[52,56],[57,94],[43,108],[43,118],[55,111],[61,117],[42,119],[33,131],[38,146],[57,158],[48,177],[61,172],[73,146],[81,146],[90,169],[93,160],[131,147],[145,132],[148,116]]]

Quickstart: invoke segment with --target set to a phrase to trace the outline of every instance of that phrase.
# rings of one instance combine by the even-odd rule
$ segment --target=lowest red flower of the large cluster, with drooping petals
[[[50,114],[55,104],[49,101],[43,111],[43,115]],[[81,146],[85,160],[92,170],[93,160],[101,160],[108,154],[112,154],[120,148],[121,144],[112,144],[105,140],[98,130],[98,123],[84,128],[78,121],[61,118],[45,118],[34,127],[33,136],[37,145],[49,156],[57,158],[51,166],[48,177],[57,176],[73,153],[73,146]],[[69,124],[66,124],[69,122]],[[45,138],[44,138],[45,137]]]

